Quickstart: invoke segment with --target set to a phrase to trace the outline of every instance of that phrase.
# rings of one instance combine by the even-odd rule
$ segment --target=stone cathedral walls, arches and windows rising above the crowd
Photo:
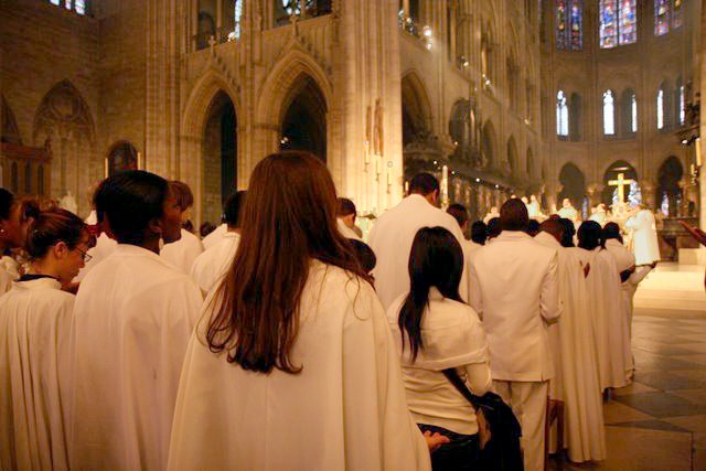
[[[278,149],[374,217],[416,172],[482,218],[512,194],[642,202],[696,247],[697,0],[4,0],[2,185],[75,199],[121,169],[194,190],[196,223]],[[38,28],[39,26],[39,28]]]

